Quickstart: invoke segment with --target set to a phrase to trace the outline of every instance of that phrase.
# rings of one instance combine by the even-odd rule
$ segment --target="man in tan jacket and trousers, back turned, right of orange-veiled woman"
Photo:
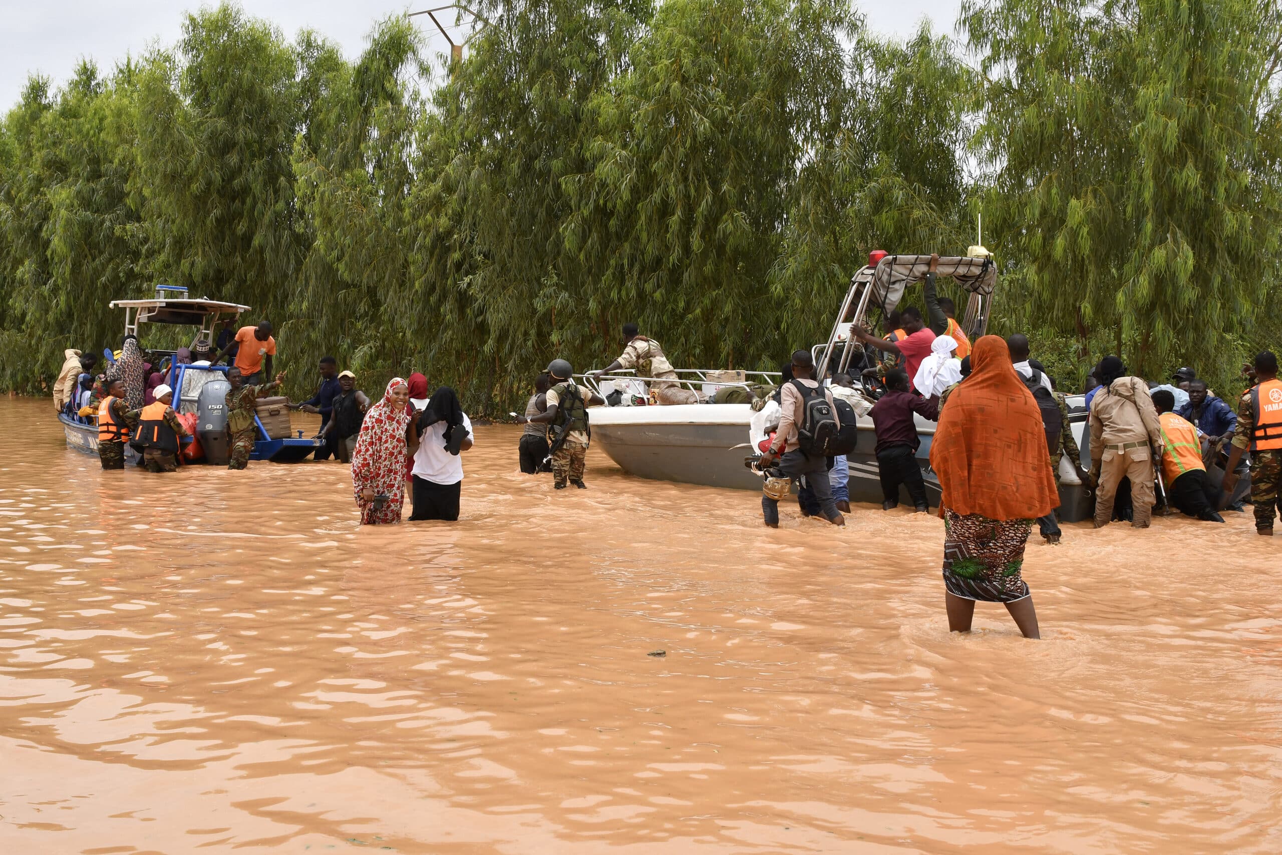
[[[1149,385],[1138,377],[1123,377],[1126,367],[1117,356],[1100,363],[1103,388],[1091,401],[1091,476],[1095,491],[1095,527],[1113,519],[1113,500],[1122,478],[1131,479],[1135,505],[1131,524],[1147,528],[1153,518],[1154,459],[1161,459],[1161,422],[1149,396]]]

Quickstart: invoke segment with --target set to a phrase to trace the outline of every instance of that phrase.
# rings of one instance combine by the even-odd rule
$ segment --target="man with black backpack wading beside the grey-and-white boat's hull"
[[[838,408],[846,414],[845,426]],[[854,450],[854,410],[845,401],[835,403],[832,394],[814,379],[814,359],[809,350],[794,351],[792,379],[779,388],[779,427],[762,455],[762,470],[777,472],[778,477],[794,481],[805,478],[819,500],[823,518],[833,526],[845,526],[846,518],[832,497],[828,458]],[[778,499],[763,495],[762,513],[767,526],[778,528]]]

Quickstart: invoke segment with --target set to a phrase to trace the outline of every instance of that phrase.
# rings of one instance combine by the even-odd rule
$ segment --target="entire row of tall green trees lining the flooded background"
[[[479,12],[459,63],[404,17],[349,60],[224,4],[31,78],[0,119],[0,385],[115,344],[106,303],[156,282],[253,305],[296,377],[333,353],[477,411],[553,356],[605,364],[626,320],[768,367],[869,250],[962,253],[979,213],[995,327],[1064,373],[1277,346],[1276,3],[972,0],[964,45],[837,0]]]

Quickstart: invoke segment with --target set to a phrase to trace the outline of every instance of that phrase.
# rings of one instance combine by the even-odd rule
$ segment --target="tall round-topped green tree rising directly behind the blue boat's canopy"
[[[290,155],[297,55],[228,4],[188,14],[138,74],[135,187],[151,277],[283,315],[301,260]]]

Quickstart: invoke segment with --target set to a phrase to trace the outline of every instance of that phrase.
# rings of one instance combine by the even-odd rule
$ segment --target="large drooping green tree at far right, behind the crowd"
[[[1023,317],[1156,376],[1228,358],[1276,279],[1276,6],[991,0],[976,150]]]

